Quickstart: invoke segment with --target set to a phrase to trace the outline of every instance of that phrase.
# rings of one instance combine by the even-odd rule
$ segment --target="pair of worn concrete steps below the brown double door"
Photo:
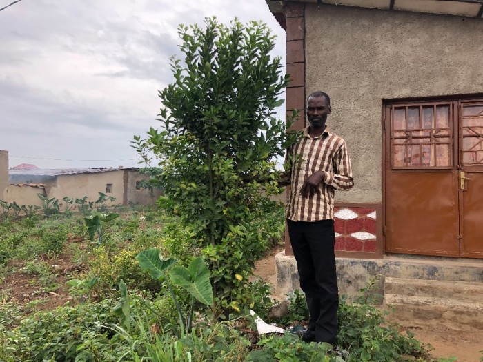
[[[440,321],[483,330],[483,283],[386,277],[383,303],[392,310],[392,321]]]

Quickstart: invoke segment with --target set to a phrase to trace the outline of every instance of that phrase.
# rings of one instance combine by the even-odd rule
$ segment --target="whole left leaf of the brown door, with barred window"
[[[457,257],[451,102],[386,107],[386,251]]]

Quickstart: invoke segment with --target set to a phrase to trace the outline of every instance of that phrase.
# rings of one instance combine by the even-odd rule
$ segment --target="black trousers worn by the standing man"
[[[287,219],[288,235],[297,261],[300,288],[307,299],[311,319],[308,330],[317,342],[333,343],[337,335],[339,290],[334,255],[334,221]]]

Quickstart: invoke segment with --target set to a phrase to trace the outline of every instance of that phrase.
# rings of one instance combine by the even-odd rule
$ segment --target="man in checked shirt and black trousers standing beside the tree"
[[[339,305],[334,193],[352,188],[354,181],[344,139],[326,127],[330,97],[312,93],[306,112],[310,125],[288,151],[290,159],[295,157],[286,208],[288,235],[311,315],[302,340],[334,343]]]

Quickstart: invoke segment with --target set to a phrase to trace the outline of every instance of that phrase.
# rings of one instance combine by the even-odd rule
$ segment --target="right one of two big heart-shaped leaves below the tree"
[[[170,272],[173,285],[179,285],[203,304],[213,303],[213,288],[210,283],[210,271],[200,257],[193,259],[189,270],[184,266],[175,266]]]

